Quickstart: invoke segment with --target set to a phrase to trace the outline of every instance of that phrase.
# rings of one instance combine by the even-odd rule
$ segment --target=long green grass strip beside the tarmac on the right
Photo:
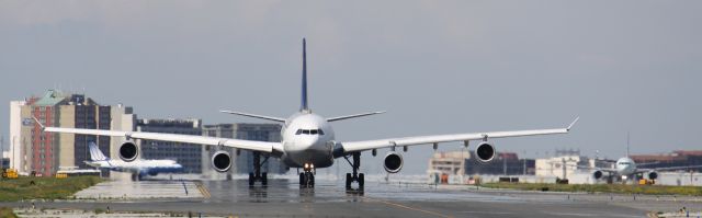
[[[490,187],[490,188],[510,188],[510,190],[547,191],[547,192],[702,196],[702,187],[700,186],[623,185],[623,184],[539,184],[539,183],[487,183],[480,186]]]

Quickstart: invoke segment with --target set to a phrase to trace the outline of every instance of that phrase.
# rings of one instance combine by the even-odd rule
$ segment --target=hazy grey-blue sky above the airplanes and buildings
[[[0,1],[0,135],[9,101],[47,89],[139,117],[259,122],[309,104],[339,140],[551,128],[498,150],[702,149],[702,1]],[[442,150],[460,149],[442,145]],[[473,144],[476,145],[476,144]],[[382,151],[381,153],[384,153]],[[423,173],[430,146],[410,148]],[[381,158],[362,168],[381,172]],[[348,164],[343,164],[347,167]]]

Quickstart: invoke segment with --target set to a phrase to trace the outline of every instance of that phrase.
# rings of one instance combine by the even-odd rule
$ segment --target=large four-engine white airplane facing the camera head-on
[[[518,131],[486,131],[471,134],[452,134],[452,135],[434,135],[434,136],[415,136],[405,138],[386,138],[366,141],[338,141],[335,137],[332,122],[381,114],[384,112],[372,112],[363,114],[354,114],[347,116],[338,116],[325,118],[313,113],[308,107],[307,99],[307,64],[306,64],[306,45],[303,38],[303,70],[302,70],[302,106],[298,112],[288,118],[263,116],[248,114],[241,112],[222,111],[223,113],[261,118],[284,124],[281,129],[280,142],[252,141],[230,138],[216,138],[207,136],[189,136],[177,134],[157,134],[140,131],[120,131],[120,130],[102,130],[102,129],[80,129],[80,128],[59,128],[45,127],[35,118],[36,123],[44,131],[64,133],[64,134],[83,134],[97,136],[120,137],[125,142],[120,147],[120,158],[124,161],[133,161],[138,156],[138,148],[134,142],[135,139],[176,141],[184,144],[200,144],[206,146],[216,146],[219,151],[212,156],[212,167],[219,171],[226,172],[231,168],[230,153],[225,151],[224,147],[244,149],[253,151],[253,169],[254,172],[249,173],[249,184],[253,185],[257,181],[263,185],[268,184],[267,173],[261,172],[261,157],[265,162],[268,158],[280,158],[290,168],[302,168],[304,172],[299,173],[299,184],[302,187],[314,187],[315,169],[328,168],[333,164],[337,158],[344,158],[352,167],[352,172],[347,173],[346,187],[351,190],[352,183],[358,183],[358,188],[363,190],[363,173],[358,173],[361,167],[361,152],[371,151],[373,156],[377,154],[376,149],[388,148],[390,151],[385,154],[384,168],[389,173],[397,173],[403,168],[403,157],[396,152],[397,148],[407,151],[409,146],[433,145],[437,149],[440,142],[464,141],[467,147],[468,141],[479,140],[476,147],[476,159],[480,162],[488,162],[495,158],[495,147],[488,142],[491,138],[535,136],[551,134],[566,134],[577,118],[566,128],[554,129],[534,129]],[[237,152],[238,153],[238,152]],[[352,160],[349,160],[351,158]]]

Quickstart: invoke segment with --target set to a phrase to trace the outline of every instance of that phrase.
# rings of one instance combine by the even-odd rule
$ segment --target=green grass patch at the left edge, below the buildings
[[[34,181],[34,184],[31,184]],[[19,177],[0,180],[0,202],[66,199],[78,191],[102,182],[98,176]]]

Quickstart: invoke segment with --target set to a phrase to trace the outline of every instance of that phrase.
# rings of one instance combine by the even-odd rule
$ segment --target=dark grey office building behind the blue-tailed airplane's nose
[[[137,131],[202,135],[201,119],[137,119]],[[183,173],[202,173],[202,146],[171,141],[140,140],[143,159],[170,159],[183,165]]]

